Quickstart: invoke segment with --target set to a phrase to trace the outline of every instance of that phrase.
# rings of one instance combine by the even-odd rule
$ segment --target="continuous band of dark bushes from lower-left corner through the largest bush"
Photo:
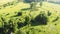
[[[29,15],[22,16],[21,12],[12,17],[10,16],[10,18],[6,16],[9,16],[9,14],[0,16],[0,34],[17,33],[17,30],[30,24],[31,26],[47,24],[47,17],[44,13],[37,15],[34,19]]]

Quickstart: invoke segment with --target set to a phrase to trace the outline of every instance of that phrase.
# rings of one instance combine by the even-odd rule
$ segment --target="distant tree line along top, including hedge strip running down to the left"
[[[13,2],[8,2],[7,4],[4,4],[3,7],[6,7],[6,6],[10,6],[10,5],[14,5],[18,2],[24,2],[24,3],[29,3],[30,4],[30,8],[36,8],[36,5],[37,3],[39,2],[40,3],[40,6],[42,6],[42,2],[44,0],[15,0]]]

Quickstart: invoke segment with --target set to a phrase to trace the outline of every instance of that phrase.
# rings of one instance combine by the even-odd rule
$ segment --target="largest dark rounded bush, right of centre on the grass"
[[[32,25],[46,25],[48,22],[48,18],[45,15],[45,13],[43,11],[41,11],[41,13],[39,15],[37,15],[35,17],[35,19],[31,20]]]

